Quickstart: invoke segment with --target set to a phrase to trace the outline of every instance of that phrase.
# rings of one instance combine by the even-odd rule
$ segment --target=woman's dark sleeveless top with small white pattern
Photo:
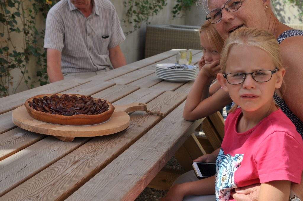
[[[277,41],[280,44],[285,38],[289,38],[291,36],[303,36],[303,31],[297,29],[287,30],[278,37]],[[285,101],[281,99],[276,93],[274,94],[274,99],[284,114],[286,114],[292,123],[295,124],[298,133],[300,133],[301,137],[303,138],[303,122],[290,111]]]

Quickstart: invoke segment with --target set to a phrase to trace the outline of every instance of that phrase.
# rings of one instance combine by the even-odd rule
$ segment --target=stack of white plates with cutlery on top
[[[197,77],[197,67],[186,64],[156,64],[156,76],[170,82],[186,82]]]

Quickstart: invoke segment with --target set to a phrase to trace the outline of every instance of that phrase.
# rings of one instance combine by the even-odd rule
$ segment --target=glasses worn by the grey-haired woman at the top
[[[235,12],[236,10],[238,10],[241,7],[241,5],[242,5],[241,0],[228,0],[224,4],[223,8],[225,8],[225,10],[227,10],[228,12]],[[215,9],[215,10],[209,12],[206,15],[205,19],[207,19],[211,24],[217,23],[222,18],[222,12],[221,12],[221,10],[223,8],[221,8],[221,9]]]

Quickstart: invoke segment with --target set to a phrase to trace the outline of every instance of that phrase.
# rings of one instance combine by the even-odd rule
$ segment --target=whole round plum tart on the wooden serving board
[[[62,125],[92,125],[107,121],[115,110],[108,101],[79,94],[42,94],[25,101],[29,115]]]

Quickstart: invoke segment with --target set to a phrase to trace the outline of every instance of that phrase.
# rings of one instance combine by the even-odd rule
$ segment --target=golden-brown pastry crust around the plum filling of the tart
[[[43,98],[44,96],[51,97],[53,94],[40,94],[34,97],[31,97],[25,101],[25,108],[28,111],[28,114],[33,117],[34,119],[37,119],[39,121],[44,121],[52,124],[60,124],[60,125],[75,125],[75,126],[82,126],[82,125],[93,125],[93,124],[100,124],[102,122],[107,121],[113,114],[115,107],[108,101],[106,103],[109,105],[108,110],[101,113],[101,114],[78,114],[78,115],[72,115],[72,116],[64,116],[61,114],[49,114],[46,112],[41,112],[38,110],[35,110],[34,108],[30,107],[28,105],[28,101],[33,101],[34,98]],[[59,97],[63,94],[57,94]],[[81,97],[84,95],[79,94],[67,94],[69,96],[75,95],[77,97]],[[88,97],[88,96],[85,96]],[[94,100],[98,100],[101,98],[94,98]],[[102,101],[104,99],[101,99]]]

